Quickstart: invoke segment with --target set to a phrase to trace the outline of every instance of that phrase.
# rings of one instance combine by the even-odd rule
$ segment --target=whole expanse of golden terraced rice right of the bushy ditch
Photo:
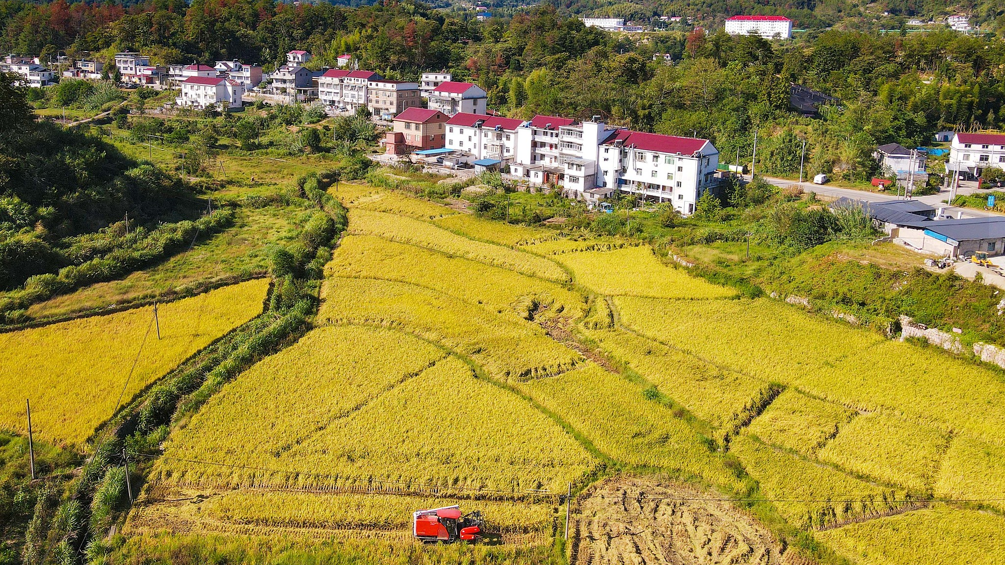
[[[996,375],[736,299],[638,242],[489,222],[372,187],[336,196],[349,234],[326,267],[315,329],[172,432],[134,533],[187,523],[404,544],[410,509],[457,503],[482,509],[504,543],[547,545],[563,526],[555,495],[616,469],[660,484],[605,486],[637,499],[617,512],[581,499],[577,563],[650,555],[625,537],[635,530],[622,522],[638,516],[706,544],[672,563],[705,563],[709,540],[724,563],[783,562],[725,501],[695,519],[689,503],[638,499],[671,478],[764,501],[759,512],[860,565],[912,562],[903,544],[935,562],[914,549],[926,536],[1001,545],[1000,515],[909,500],[1005,492]]]

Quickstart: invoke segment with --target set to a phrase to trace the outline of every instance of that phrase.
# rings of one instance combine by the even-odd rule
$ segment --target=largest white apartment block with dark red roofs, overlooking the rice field
[[[513,175],[561,186],[587,201],[618,190],[672,202],[686,215],[718,182],[719,151],[708,140],[612,128],[599,118],[576,123],[552,116],[536,116],[517,135]]]

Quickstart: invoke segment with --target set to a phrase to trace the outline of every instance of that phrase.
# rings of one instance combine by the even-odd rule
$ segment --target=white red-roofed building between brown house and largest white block
[[[497,159],[509,164],[517,155],[517,130],[523,125],[523,120],[458,113],[446,123],[445,147],[474,160]]]

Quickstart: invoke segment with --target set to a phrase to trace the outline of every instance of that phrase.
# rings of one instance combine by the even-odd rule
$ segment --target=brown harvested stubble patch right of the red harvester
[[[716,495],[653,478],[616,477],[573,509],[573,565],[782,565],[782,545]],[[676,499],[676,500],[667,500]],[[680,500],[691,499],[691,500]],[[786,556],[788,557],[788,556]]]

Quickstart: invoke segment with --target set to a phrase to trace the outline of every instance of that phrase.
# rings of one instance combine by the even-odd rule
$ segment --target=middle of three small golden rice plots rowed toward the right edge
[[[818,456],[889,485],[927,491],[948,441],[938,427],[874,413],[842,426]]]

